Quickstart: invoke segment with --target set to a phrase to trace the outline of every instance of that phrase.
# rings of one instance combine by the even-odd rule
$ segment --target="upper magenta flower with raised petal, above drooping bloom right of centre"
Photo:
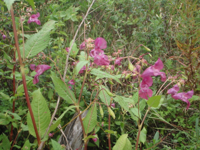
[[[161,81],[166,80],[166,75],[164,72],[160,72],[161,69],[163,69],[163,63],[160,58],[155,62],[154,65],[148,67],[143,73],[142,73],[142,78],[147,77],[147,76],[161,76]]]

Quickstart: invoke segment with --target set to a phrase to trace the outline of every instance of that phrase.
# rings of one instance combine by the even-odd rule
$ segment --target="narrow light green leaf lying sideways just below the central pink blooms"
[[[110,79],[114,79],[115,81],[117,81],[118,83],[121,84],[121,82],[119,81],[119,79],[116,76],[113,76],[107,72],[103,72],[100,69],[92,69],[91,74],[97,76],[98,78],[110,78]]]

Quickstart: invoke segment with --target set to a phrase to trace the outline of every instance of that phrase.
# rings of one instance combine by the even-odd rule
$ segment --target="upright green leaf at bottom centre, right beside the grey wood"
[[[96,103],[92,105],[90,110],[87,112],[86,117],[83,119],[83,126],[85,133],[90,133],[97,124],[97,106]]]

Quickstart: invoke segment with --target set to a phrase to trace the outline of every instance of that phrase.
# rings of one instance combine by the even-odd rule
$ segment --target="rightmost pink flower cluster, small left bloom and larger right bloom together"
[[[183,102],[187,103],[187,107],[186,109],[188,110],[188,108],[190,107],[190,102],[188,99],[192,98],[194,91],[188,91],[187,93],[182,92],[182,93],[178,93],[179,91],[179,87],[178,85],[174,85],[171,89],[169,89],[167,91],[168,94],[171,94],[172,98],[174,98],[175,100],[182,100]]]

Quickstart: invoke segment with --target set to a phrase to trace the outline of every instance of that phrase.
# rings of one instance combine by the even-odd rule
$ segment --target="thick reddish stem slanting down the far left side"
[[[30,112],[30,116],[31,116],[31,119],[32,119],[33,127],[34,127],[34,130],[35,130],[35,134],[36,134],[38,145],[39,145],[41,141],[40,141],[40,137],[39,137],[39,134],[38,134],[38,131],[37,131],[35,119],[34,119],[34,116],[33,116],[33,111],[32,111],[30,100],[29,100],[29,96],[28,96],[28,90],[27,90],[27,85],[26,85],[26,77],[25,77],[25,72],[24,72],[24,65],[23,65],[21,54],[20,54],[20,50],[19,50],[17,30],[16,30],[16,25],[15,25],[15,17],[14,17],[14,12],[13,12],[13,8],[12,7],[11,7],[11,10],[10,10],[10,13],[11,13],[11,17],[12,17],[13,33],[14,33],[14,37],[15,37],[15,45],[16,45],[18,58],[19,58],[19,63],[20,63],[20,68],[21,68],[22,82],[23,82],[23,86],[24,86],[26,102],[27,102],[27,106],[28,106],[28,109],[29,109],[29,112]]]

